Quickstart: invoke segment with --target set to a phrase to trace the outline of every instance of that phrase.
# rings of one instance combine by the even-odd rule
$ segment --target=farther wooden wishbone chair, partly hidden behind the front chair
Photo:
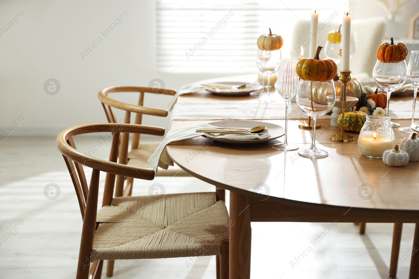
[[[114,92],[138,92],[140,97],[138,99],[138,105],[127,104],[120,102],[108,97],[109,93]],[[147,108],[143,105],[144,103],[144,94],[145,93],[157,93],[164,95],[174,95],[176,90],[170,89],[155,89],[150,87],[138,87],[138,86],[112,86],[103,88],[98,93],[98,98],[102,102],[103,109],[105,110],[106,118],[108,118],[109,123],[117,123],[113,108],[117,108],[125,111],[124,123],[130,123],[131,113],[135,113],[134,124],[142,123],[142,115],[155,115],[160,117],[166,117],[168,115],[167,110],[162,110],[158,108]],[[151,154],[155,151],[159,143],[140,143],[140,134],[135,133],[132,136],[131,151],[128,152],[129,145],[129,133],[122,133],[120,141],[120,154],[119,154],[119,163],[129,164],[131,166],[138,166],[142,168],[150,168],[147,160],[150,158]],[[179,168],[178,166],[169,166],[169,168],[161,169],[159,168],[156,176],[181,176],[189,177],[190,175]],[[133,179],[127,179],[127,186],[124,189],[124,180],[122,176],[116,177],[116,189],[115,196],[121,197],[123,193],[131,195]]]

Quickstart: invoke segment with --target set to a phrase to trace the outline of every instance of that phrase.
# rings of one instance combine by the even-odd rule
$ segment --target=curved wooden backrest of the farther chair
[[[109,93],[115,92],[138,92],[140,97],[138,99],[138,105],[127,104],[120,102],[108,97]],[[163,89],[163,88],[152,88],[152,87],[139,87],[139,86],[111,86],[103,88],[98,93],[98,98],[102,102],[103,110],[105,110],[106,118],[108,118],[109,123],[117,123],[113,108],[120,110],[125,110],[124,123],[130,123],[131,113],[136,113],[135,120],[133,124],[142,123],[142,115],[154,115],[166,117],[168,115],[167,110],[162,110],[158,108],[147,108],[143,105],[144,103],[144,94],[145,93],[154,93],[161,95],[175,95],[176,90]],[[121,137],[121,154],[119,162],[122,164],[127,164],[127,155],[128,155],[128,141],[129,133],[123,133]],[[132,136],[131,149],[136,149],[140,143],[140,134],[134,134]],[[124,159],[125,158],[125,159]]]

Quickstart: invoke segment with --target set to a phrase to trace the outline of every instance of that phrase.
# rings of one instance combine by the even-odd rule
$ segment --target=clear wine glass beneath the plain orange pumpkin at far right
[[[383,90],[387,94],[387,116],[390,106],[390,96],[391,93],[399,90],[404,82],[406,82],[406,62],[396,61],[396,62],[382,62],[377,60],[375,67],[372,70],[372,78],[374,79],[375,84],[378,88]],[[391,127],[400,126],[399,123],[390,122]]]

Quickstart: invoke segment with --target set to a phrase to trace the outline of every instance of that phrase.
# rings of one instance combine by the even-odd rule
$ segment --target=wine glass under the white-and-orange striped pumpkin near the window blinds
[[[256,65],[258,66],[259,70],[261,70],[264,73],[264,76],[266,76],[267,80],[267,87],[266,92],[263,92],[260,94],[259,101],[261,102],[273,102],[274,100],[271,97],[270,93],[270,80],[271,75],[278,72],[279,69],[279,59],[281,59],[281,50],[262,50],[258,49],[258,58],[256,60]],[[273,86],[274,84],[272,84]]]

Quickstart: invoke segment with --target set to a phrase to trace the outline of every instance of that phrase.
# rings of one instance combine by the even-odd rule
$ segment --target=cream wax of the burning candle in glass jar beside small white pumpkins
[[[391,136],[380,133],[364,133],[358,138],[358,148],[367,157],[382,158],[383,152],[394,147],[395,140]]]

